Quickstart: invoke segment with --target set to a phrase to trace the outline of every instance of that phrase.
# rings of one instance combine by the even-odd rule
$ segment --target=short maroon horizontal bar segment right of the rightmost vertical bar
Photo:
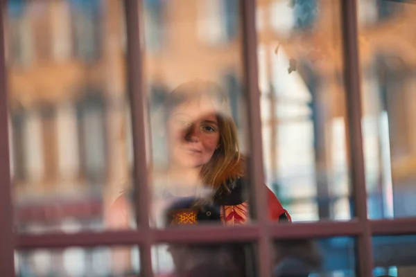
[[[415,235],[416,218],[370,220],[372,235]]]

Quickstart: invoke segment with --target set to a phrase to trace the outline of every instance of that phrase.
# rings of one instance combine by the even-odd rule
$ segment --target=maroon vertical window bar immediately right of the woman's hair
[[[254,193],[254,212],[259,225],[259,270],[260,276],[270,276],[270,233],[268,230],[268,209],[266,186],[263,176],[263,148],[261,141],[260,92],[257,79],[257,35],[256,1],[244,0],[242,5],[243,59],[245,78],[245,104],[248,111],[250,130],[250,159],[248,173]]]

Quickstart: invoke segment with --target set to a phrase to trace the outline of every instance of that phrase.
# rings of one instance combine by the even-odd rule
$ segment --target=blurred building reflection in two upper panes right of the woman
[[[369,216],[412,216],[416,44],[408,26],[416,6],[358,4]],[[258,1],[257,8],[268,183],[277,184],[295,219],[349,219],[339,3]]]

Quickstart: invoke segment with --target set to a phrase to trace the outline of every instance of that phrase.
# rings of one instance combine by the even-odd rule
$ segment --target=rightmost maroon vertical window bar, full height
[[[358,276],[372,276],[372,242],[370,222],[367,219],[367,192],[361,130],[361,83],[356,1],[343,0],[341,6],[344,81],[347,92],[349,157],[354,188],[354,211],[363,230],[358,236]]]

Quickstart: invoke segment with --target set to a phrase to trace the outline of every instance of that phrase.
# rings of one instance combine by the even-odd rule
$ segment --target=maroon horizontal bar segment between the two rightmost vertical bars
[[[357,236],[363,231],[364,222],[311,222],[293,224],[272,224],[270,234],[275,239],[328,238]]]

